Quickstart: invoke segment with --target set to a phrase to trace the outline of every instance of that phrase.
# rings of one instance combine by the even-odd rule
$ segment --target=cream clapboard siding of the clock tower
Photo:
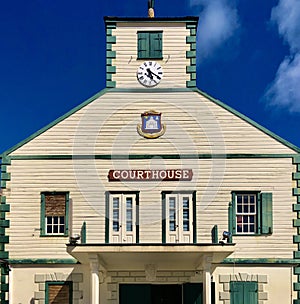
[[[113,45],[116,52],[116,59],[113,66],[116,73],[113,74],[113,81],[116,87],[140,88],[142,87],[136,78],[138,67],[144,60],[137,60],[137,32],[138,31],[163,31],[163,60],[157,60],[162,66],[164,77],[159,88],[186,87],[186,81],[190,76],[186,74],[186,66],[190,60],[186,59],[186,51],[190,50],[190,45],[186,43],[186,37],[190,35],[190,30],[183,24],[164,24],[163,26],[145,26],[145,24],[118,24],[113,30],[113,35],[117,38],[117,43]]]

